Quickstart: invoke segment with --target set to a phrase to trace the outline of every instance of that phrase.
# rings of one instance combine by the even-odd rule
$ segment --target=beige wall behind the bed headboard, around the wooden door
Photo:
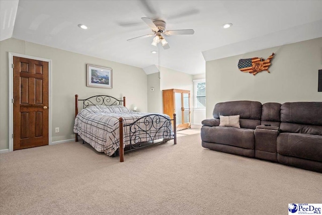
[[[147,76],[141,68],[13,38],[1,41],[0,51],[1,150],[8,149],[9,144],[8,52],[52,60],[52,107],[49,107],[52,110],[52,141],[73,138],[75,94],[78,94],[80,99],[98,94],[108,94],[115,98],[125,96],[127,107],[133,109],[134,106],[137,106],[140,111],[147,111]],[[86,64],[112,68],[113,89],[86,87]],[[59,133],[55,133],[55,127],[60,128]]]

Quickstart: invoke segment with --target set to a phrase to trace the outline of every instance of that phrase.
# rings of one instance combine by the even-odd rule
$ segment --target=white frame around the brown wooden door
[[[14,105],[12,103],[14,98],[14,68],[12,66],[14,63],[14,56],[48,62],[48,145],[51,145],[51,59],[9,52],[9,152],[14,151]]]

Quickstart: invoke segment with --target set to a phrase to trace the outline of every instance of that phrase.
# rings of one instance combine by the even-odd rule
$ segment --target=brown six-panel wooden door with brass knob
[[[14,56],[14,150],[48,145],[48,62]]]

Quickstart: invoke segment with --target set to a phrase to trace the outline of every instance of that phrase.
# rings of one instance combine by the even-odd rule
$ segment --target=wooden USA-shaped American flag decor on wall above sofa
[[[263,57],[253,57],[248,59],[239,59],[238,61],[238,68],[240,71],[243,71],[244,73],[250,73],[254,76],[259,73],[260,71],[268,70],[268,67],[271,65],[271,59],[273,58],[274,53],[267,58],[267,60],[264,60]]]

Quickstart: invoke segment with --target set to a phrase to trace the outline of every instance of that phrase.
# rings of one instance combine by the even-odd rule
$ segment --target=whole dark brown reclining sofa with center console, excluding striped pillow
[[[239,115],[240,128],[219,126],[220,115]],[[322,102],[222,102],[202,125],[204,148],[322,173]]]

